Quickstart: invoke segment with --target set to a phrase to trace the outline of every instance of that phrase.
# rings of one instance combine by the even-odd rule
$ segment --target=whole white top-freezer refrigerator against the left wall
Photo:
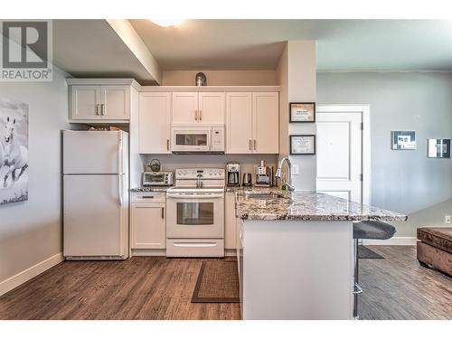
[[[128,257],[128,134],[62,131],[63,255]]]

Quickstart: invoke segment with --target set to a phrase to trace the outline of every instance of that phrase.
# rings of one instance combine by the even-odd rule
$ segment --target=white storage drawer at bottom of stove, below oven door
[[[166,240],[166,257],[224,257],[224,240]]]

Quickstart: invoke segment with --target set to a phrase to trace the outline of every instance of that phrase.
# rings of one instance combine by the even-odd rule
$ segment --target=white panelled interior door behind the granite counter
[[[363,202],[363,114],[317,112],[316,189]]]

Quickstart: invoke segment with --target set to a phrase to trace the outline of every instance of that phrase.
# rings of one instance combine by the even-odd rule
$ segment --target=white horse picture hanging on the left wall
[[[28,104],[0,99],[0,205],[28,200]]]

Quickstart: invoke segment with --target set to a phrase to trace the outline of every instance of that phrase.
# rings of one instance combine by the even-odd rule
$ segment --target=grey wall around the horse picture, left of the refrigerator
[[[0,82],[0,97],[28,103],[28,201],[0,206],[0,283],[61,252],[61,134],[67,74],[52,82]]]

